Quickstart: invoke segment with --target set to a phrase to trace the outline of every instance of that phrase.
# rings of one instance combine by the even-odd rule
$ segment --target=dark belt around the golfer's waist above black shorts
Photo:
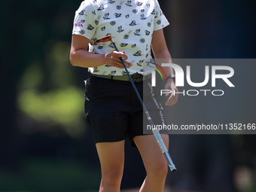
[[[96,78],[107,78],[111,80],[119,80],[119,81],[130,81],[130,78],[128,75],[95,75],[95,74],[90,74],[90,76],[96,77]],[[145,81],[149,78],[151,78],[151,74],[149,75],[142,75],[139,73],[130,75],[133,82],[141,82]]]

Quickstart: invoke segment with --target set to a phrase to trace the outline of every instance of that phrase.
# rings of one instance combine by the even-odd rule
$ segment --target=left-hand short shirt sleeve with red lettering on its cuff
[[[75,11],[75,19],[72,35],[83,35],[91,39],[96,32],[96,11],[90,2],[81,3],[78,11]]]

